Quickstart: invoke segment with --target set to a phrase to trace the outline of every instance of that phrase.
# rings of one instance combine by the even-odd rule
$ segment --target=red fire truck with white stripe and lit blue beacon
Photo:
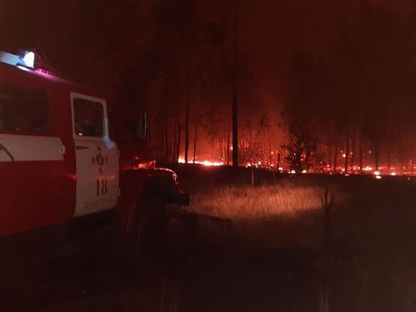
[[[36,61],[0,52],[1,236],[103,213],[134,230],[188,204],[173,171],[112,141],[103,97]]]

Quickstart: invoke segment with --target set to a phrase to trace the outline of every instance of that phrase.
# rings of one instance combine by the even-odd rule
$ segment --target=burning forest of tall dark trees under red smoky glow
[[[146,114],[147,144],[164,163],[230,165],[238,122],[241,166],[412,175],[412,2],[262,5],[154,0],[108,10],[70,1],[67,17],[50,4],[35,22],[42,5],[4,2],[0,35],[107,94],[117,134],[137,132]],[[30,13],[19,25],[17,11]],[[293,34],[284,32],[297,13]]]

